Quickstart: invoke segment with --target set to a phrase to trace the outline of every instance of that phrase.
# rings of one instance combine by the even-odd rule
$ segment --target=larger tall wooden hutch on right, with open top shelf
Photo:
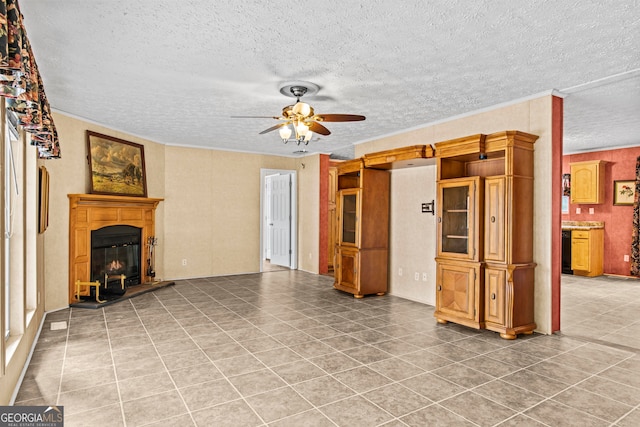
[[[505,339],[534,322],[533,144],[518,131],[435,144],[436,319]]]

